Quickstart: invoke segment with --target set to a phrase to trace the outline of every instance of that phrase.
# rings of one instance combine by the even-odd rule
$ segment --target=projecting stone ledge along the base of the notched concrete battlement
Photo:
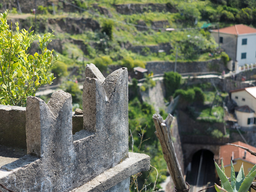
[[[140,153],[130,153],[129,158],[122,163],[101,173],[84,185],[70,192],[103,192],[141,171],[148,171],[150,157]]]

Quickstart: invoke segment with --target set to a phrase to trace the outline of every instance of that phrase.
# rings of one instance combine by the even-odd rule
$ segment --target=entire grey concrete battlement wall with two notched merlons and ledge
[[[27,98],[28,155],[13,158],[3,146],[1,184],[14,191],[128,192],[130,175],[149,169],[149,156],[128,153],[127,68],[105,79],[90,64],[85,75],[84,115],[77,115],[83,122],[74,135],[69,93],[54,92],[48,104]]]

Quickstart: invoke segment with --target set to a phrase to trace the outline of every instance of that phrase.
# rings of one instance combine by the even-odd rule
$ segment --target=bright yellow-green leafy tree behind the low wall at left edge
[[[44,84],[51,84],[53,74],[48,72],[52,65],[52,51],[47,49],[52,33],[33,35],[33,31],[19,28],[16,33],[7,24],[8,10],[0,14],[0,100],[4,105],[26,104],[27,96],[34,96]],[[35,39],[39,39],[39,52],[28,51]],[[58,55],[55,57],[58,59]]]

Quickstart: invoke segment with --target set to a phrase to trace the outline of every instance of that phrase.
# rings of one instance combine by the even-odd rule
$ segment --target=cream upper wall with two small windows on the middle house
[[[237,99],[236,99],[236,97],[237,97]],[[250,93],[248,93],[245,90],[232,92],[231,99],[236,101],[236,103],[239,107],[241,107],[243,105],[248,105],[249,108],[256,111],[256,98],[253,97]]]

